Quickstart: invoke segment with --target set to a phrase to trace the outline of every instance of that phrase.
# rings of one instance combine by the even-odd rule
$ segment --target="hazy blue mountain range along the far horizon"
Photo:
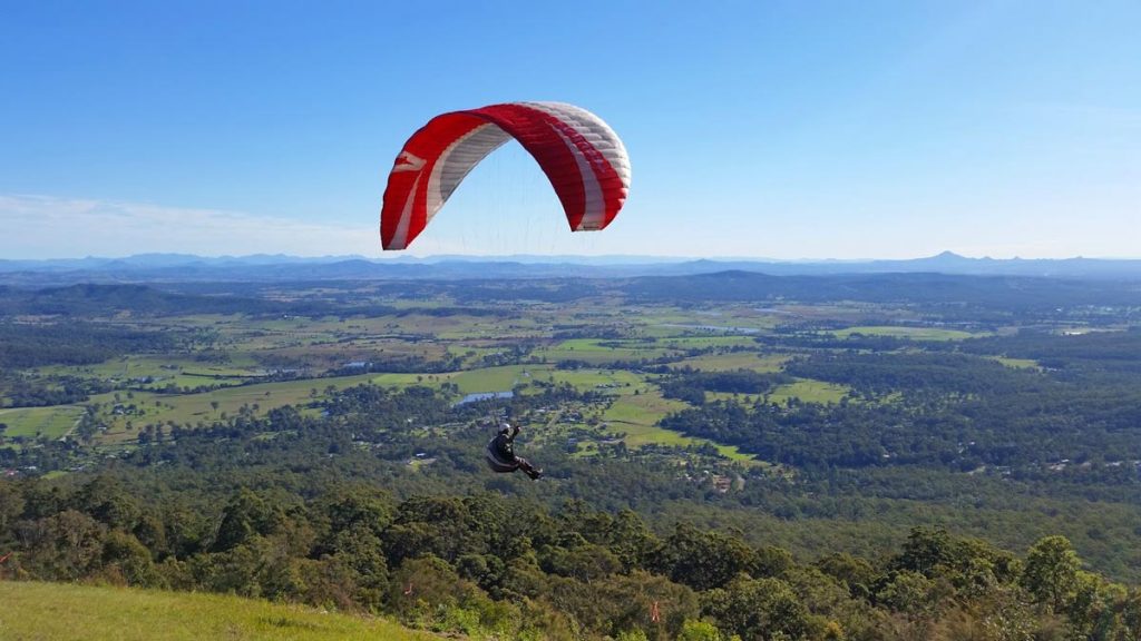
[[[774,276],[937,273],[974,276],[1039,276],[1141,279],[1141,260],[992,259],[953,252],[909,260],[682,260],[661,257],[400,257],[299,258],[282,254],[204,258],[137,254],[127,258],[0,260],[0,282],[11,285],[161,282],[297,282],[456,278],[685,276],[739,270]]]

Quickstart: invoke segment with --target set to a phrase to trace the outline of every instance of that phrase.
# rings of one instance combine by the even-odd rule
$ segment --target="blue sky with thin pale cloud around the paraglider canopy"
[[[0,258],[380,257],[408,135],[509,100],[609,122],[626,208],[570,234],[504,148],[411,253],[1141,258],[1139,34],[1136,0],[0,0]]]

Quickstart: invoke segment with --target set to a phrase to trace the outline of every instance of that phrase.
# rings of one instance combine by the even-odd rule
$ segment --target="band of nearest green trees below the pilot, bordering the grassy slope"
[[[1063,537],[1018,558],[916,528],[877,560],[796,562],[739,533],[653,534],[631,511],[496,494],[396,502],[243,488],[161,505],[112,476],[0,481],[7,578],[202,590],[395,615],[511,639],[1106,639],[1141,633],[1141,593],[1084,571]]]

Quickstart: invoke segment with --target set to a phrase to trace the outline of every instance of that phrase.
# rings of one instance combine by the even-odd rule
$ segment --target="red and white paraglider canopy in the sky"
[[[630,160],[613,129],[566,103],[505,103],[438,115],[408,138],[385,189],[380,240],[403,250],[487,154],[516,139],[563,203],[572,232],[602,229],[630,189]]]

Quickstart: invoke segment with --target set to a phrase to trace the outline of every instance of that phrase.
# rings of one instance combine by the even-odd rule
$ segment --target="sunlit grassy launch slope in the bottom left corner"
[[[0,638],[14,641],[439,639],[385,619],[218,594],[0,582]]]

